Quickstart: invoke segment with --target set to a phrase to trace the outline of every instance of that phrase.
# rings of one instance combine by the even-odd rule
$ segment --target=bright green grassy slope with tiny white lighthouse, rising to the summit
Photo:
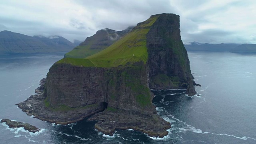
[[[66,63],[77,66],[116,67],[138,61],[146,63],[148,52],[146,48],[146,34],[158,16],[138,24],[130,33],[116,41],[108,48],[84,59],[63,58],[57,63]],[[92,65],[93,64],[93,65]]]

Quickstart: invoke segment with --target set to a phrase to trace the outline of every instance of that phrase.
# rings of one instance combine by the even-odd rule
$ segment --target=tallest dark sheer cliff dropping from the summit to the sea
[[[161,14],[147,34],[149,87],[152,89],[185,88],[196,94],[188,54],[180,39],[177,15]]]

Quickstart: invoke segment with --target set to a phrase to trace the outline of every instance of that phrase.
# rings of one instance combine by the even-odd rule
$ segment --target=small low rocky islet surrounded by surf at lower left
[[[1,122],[6,122],[9,128],[24,128],[25,130],[28,130],[29,132],[33,132],[33,133],[38,132],[40,130],[35,126],[32,126],[24,122],[16,122],[14,120],[9,120],[9,119],[2,119]]]

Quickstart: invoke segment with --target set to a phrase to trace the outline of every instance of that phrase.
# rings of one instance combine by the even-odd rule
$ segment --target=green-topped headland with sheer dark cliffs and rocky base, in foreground
[[[175,14],[152,15],[96,54],[63,58],[50,68],[43,94],[18,107],[58,124],[91,116],[104,134],[132,128],[163,137],[170,123],[156,114],[150,89],[196,94],[179,27]]]

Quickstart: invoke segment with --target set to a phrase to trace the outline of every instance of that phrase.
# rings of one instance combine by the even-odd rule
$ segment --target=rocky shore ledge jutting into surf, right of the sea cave
[[[166,130],[171,128],[170,122],[160,118],[157,114],[153,116],[138,116],[136,114],[126,114],[122,110],[119,112],[105,110],[94,114],[88,118],[88,121],[98,121],[94,127],[110,136],[116,130],[133,129],[148,134],[148,136],[163,138],[168,134]]]

